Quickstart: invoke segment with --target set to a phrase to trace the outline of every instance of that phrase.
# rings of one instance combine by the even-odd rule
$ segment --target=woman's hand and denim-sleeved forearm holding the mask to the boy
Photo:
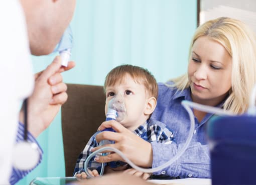
[[[135,164],[142,167],[157,167],[167,162],[183,146],[183,144],[177,146],[175,142],[171,144],[149,143],[114,120],[103,122],[99,129],[102,130],[106,127],[112,127],[116,132],[101,132],[96,136],[97,141],[103,139],[115,140],[114,144],[105,146],[119,149]],[[101,147],[95,147],[92,151]],[[98,162],[113,160],[124,161],[117,153],[111,153],[96,159]],[[155,172],[155,174],[180,177],[210,177],[210,157],[207,145],[201,145],[200,142],[191,143],[177,161],[171,166]]]

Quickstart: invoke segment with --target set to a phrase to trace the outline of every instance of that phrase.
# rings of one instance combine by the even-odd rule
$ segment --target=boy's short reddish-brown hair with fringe
[[[130,64],[119,65],[108,72],[105,78],[104,91],[106,86],[121,83],[126,74],[130,74],[136,83],[143,84],[146,93],[157,99],[158,84],[155,77],[148,71],[148,69]]]

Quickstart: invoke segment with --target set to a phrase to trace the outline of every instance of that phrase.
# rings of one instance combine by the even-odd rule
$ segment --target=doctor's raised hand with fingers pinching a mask
[[[67,85],[62,81],[61,72],[75,66],[71,61],[67,67],[61,66],[60,56],[56,56],[48,67],[35,74],[35,86],[28,99],[28,130],[37,137],[57,115],[67,100]],[[24,122],[24,110],[20,112],[20,121]]]

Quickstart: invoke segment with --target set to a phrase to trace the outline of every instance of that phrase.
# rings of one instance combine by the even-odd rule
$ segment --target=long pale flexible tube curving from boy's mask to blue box
[[[252,91],[252,94],[251,94],[251,103],[250,103],[250,106],[248,108],[248,113],[249,114],[253,114],[255,115],[255,95],[256,95],[256,85],[254,86],[253,88],[253,91]],[[228,110],[224,110],[224,109],[221,109],[221,108],[217,108],[217,107],[212,107],[212,106],[208,106],[208,105],[202,105],[202,104],[198,104],[198,103],[195,103],[195,102],[191,102],[191,101],[187,101],[187,100],[183,100],[181,102],[181,104],[183,105],[183,107],[187,110],[187,112],[189,113],[189,117],[190,117],[190,121],[191,121],[191,126],[190,126],[190,129],[189,129],[189,133],[188,133],[188,137],[187,137],[187,140],[186,142],[184,143],[184,146],[178,150],[177,154],[171,158],[169,161],[167,161],[165,164],[162,164],[158,167],[154,167],[154,168],[142,168],[142,167],[139,167],[137,166],[136,164],[134,164],[129,158],[127,158],[120,150],[116,149],[116,148],[113,148],[113,147],[109,147],[109,146],[105,146],[105,147],[102,147],[100,149],[97,149],[96,151],[92,152],[86,159],[85,161],[85,172],[87,174],[88,177],[92,177],[92,175],[88,172],[88,169],[87,169],[87,166],[88,166],[88,162],[89,160],[95,156],[96,154],[98,153],[101,153],[102,151],[104,150],[108,150],[108,151],[113,151],[113,152],[116,152],[117,154],[119,154],[128,164],[130,164],[131,167],[135,168],[136,170],[138,171],[143,171],[143,172],[147,172],[147,173],[152,173],[152,172],[156,172],[156,171],[159,171],[167,166],[170,166],[174,161],[176,161],[182,154],[183,152],[186,150],[186,148],[188,147],[192,137],[193,137],[193,132],[194,132],[194,129],[195,129],[195,120],[194,120],[194,114],[193,114],[193,111],[191,109],[192,108],[195,108],[195,109],[198,109],[198,110],[201,110],[201,111],[204,111],[204,112],[210,112],[210,113],[214,113],[216,115],[220,115],[220,116],[234,116],[235,114],[228,111]],[[118,114],[117,114],[117,117],[118,117]],[[112,128],[107,128],[109,131],[111,131],[110,129]],[[104,131],[104,130],[102,130]],[[100,175],[103,174],[103,164],[102,164],[102,167],[101,167],[101,173]]]

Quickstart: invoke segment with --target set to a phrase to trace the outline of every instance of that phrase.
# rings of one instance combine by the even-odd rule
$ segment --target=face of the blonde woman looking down
[[[232,58],[210,37],[201,36],[193,44],[188,77],[194,102],[217,105],[231,88]]]

